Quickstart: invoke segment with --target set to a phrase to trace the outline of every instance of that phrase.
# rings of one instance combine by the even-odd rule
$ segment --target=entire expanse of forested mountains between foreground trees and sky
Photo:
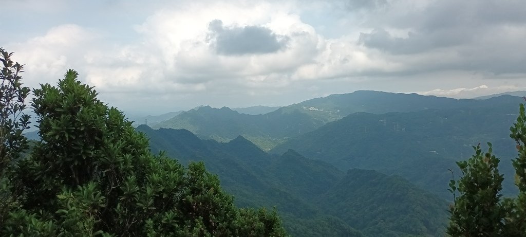
[[[503,194],[517,193],[521,101],[357,91],[257,115],[203,106],[138,130],[153,151],[205,161],[238,206],[276,206],[293,235],[442,236],[447,183],[472,146],[493,143]]]

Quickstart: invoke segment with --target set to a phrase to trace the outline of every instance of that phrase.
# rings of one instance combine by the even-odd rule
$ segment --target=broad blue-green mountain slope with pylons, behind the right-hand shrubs
[[[354,113],[316,131],[290,139],[271,152],[294,149],[309,158],[341,169],[372,169],[398,174],[420,187],[448,197],[443,183],[451,178],[454,161],[472,154],[472,145],[491,141],[497,155],[509,161],[514,142],[509,126],[517,117],[520,97],[491,98],[487,106],[424,110],[407,113]],[[512,174],[510,162],[503,173]],[[457,173],[458,174],[458,173]],[[507,179],[507,193],[514,192]]]

